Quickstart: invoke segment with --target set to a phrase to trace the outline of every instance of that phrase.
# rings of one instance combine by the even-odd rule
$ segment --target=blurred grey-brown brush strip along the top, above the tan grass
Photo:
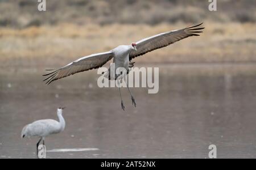
[[[218,1],[217,12],[209,12],[207,0],[51,0],[47,11],[37,10],[35,0],[0,0],[0,27],[32,25],[150,24],[191,22],[256,22],[255,0]]]

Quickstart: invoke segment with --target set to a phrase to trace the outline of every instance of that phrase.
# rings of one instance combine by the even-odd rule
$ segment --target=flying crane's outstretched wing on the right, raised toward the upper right
[[[148,52],[151,52],[152,50],[163,48],[164,46],[168,46],[176,41],[185,39],[187,37],[199,36],[198,33],[203,32],[201,31],[201,29],[204,29],[203,27],[199,27],[201,24],[175,31],[160,33],[158,35],[151,36],[136,42],[137,51],[132,51],[130,53],[130,61],[135,57],[142,56]]]

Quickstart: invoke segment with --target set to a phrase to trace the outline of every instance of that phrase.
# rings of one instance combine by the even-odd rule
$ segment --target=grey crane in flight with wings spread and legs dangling
[[[133,66],[133,64],[131,64],[131,59],[138,56],[142,56],[148,52],[151,52],[152,50],[163,48],[165,46],[173,44],[174,42],[180,41],[187,37],[199,36],[199,33],[202,32],[201,30],[204,29],[203,27],[199,27],[202,24],[203,23],[194,25],[192,27],[186,27],[183,29],[160,33],[158,35],[151,36],[137,42],[133,42],[131,45],[117,46],[117,48],[114,48],[109,52],[97,53],[97,54],[92,54],[90,56],[82,57],[72,63],[69,63],[64,67],[61,67],[56,71],[52,71],[49,74],[44,74],[43,76],[47,76],[47,78],[44,79],[44,81],[46,81],[46,84],[50,84],[55,80],[64,78],[72,74],[76,74],[86,70],[97,69],[105,65],[105,63],[112,58],[113,58],[113,62],[115,63],[115,70],[117,70],[119,67],[122,67],[127,70],[127,73],[129,73],[129,67]],[[109,76],[109,79],[117,79],[119,76],[115,73],[113,75],[113,74],[109,74],[110,73],[109,71],[107,72],[108,73],[105,73],[105,77]],[[128,86],[127,88],[129,89]],[[130,92],[130,89],[129,89],[129,92]],[[121,96],[120,89],[119,89],[119,93]],[[130,95],[131,95],[131,92],[130,92]],[[136,103],[133,95],[131,95],[131,100],[133,101],[133,105],[136,107]],[[122,102],[122,96],[121,96],[121,107],[123,110],[125,109]]]

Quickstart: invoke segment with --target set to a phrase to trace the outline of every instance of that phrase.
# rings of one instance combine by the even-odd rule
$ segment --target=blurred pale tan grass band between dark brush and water
[[[183,28],[184,23],[85,25],[0,28],[1,66],[60,66],[81,56],[104,52],[156,33]],[[210,24],[200,37],[155,50],[137,62],[255,62],[256,24]]]

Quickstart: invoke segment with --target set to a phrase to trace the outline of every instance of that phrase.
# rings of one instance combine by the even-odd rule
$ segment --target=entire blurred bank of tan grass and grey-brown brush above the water
[[[255,1],[0,1],[1,67],[55,67],[156,33],[204,22],[200,37],[136,59],[143,63],[255,62]]]

